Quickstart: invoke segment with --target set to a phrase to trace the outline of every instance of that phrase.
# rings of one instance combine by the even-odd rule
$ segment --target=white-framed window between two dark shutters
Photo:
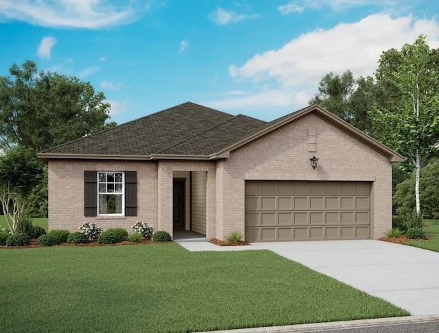
[[[97,213],[99,215],[125,214],[123,172],[97,173]]]

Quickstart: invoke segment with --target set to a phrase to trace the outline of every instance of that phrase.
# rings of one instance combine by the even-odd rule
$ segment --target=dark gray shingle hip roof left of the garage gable
[[[265,124],[249,116],[233,116],[188,102],[43,153],[206,156],[237,143]]]

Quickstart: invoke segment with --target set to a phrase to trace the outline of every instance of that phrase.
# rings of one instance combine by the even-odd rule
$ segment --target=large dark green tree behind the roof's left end
[[[105,127],[110,104],[89,82],[58,73],[38,71],[26,61],[13,64],[10,77],[0,77],[0,138],[41,151]]]

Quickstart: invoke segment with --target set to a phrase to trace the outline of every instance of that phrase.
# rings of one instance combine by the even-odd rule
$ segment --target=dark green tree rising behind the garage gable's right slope
[[[376,101],[372,77],[354,78],[349,70],[342,75],[330,72],[320,80],[318,91],[309,103],[319,104],[363,132],[370,131],[368,111]]]

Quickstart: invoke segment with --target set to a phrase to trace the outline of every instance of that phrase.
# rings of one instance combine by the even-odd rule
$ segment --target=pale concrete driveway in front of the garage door
[[[252,243],[381,297],[412,315],[439,314],[439,253],[379,240]]]

